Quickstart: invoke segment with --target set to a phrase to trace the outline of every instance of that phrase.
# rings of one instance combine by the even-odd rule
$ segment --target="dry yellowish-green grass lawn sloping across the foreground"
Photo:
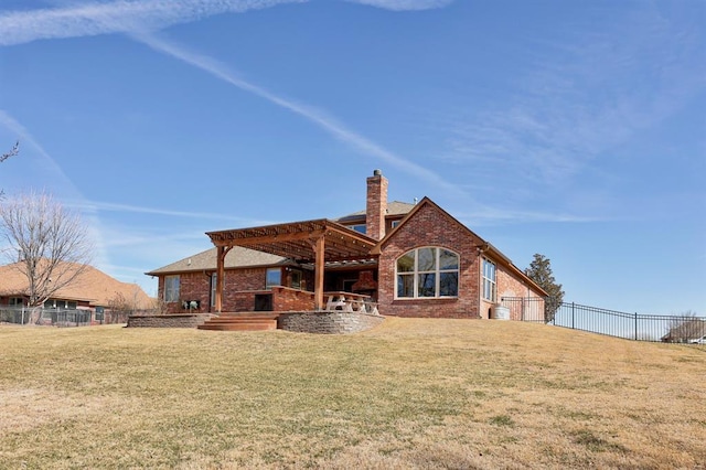
[[[0,327],[0,468],[706,468],[706,348],[388,318]]]

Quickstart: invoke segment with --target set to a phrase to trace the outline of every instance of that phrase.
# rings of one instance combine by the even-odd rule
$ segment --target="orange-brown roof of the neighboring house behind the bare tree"
[[[19,263],[0,266],[0,296],[23,296],[28,290],[26,276],[20,271]],[[79,265],[68,264],[76,268]],[[107,274],[86,266],[76,280],[57,290],[52,298],[65,300],[84,300],[93,306],[108,306],[118,295],[126,300],[135,300],[139,309],[148,309],[152,300],[137,284],[121,282]]]

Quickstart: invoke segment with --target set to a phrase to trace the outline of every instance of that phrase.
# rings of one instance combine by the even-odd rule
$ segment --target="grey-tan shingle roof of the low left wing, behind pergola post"
[[[212,271],[216,269],[217,248],[213,247],[196,255],[189,256],[164,267],[146,273],[148,276],[167,275],[171,273]],[[256,252],[255,249],[236,246],[225,255],[225,268],[247,268],[257,266],[288,265],[289,258]]]

